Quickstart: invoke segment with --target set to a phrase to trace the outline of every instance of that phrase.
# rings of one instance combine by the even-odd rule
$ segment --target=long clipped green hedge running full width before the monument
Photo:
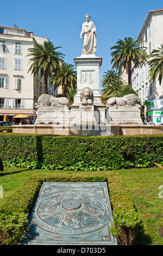
[[[8,166],[65,170],[108,170],[163,164],[163,135],[52,136],[6,133],[0,157]]]

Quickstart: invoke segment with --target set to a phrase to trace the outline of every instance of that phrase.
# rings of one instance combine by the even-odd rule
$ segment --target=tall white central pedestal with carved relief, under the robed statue
[[[77,94],[74,96],[74,103],[80,103],[80,92],[84,87],[93,91],[94,103],[101,103],[99,94],[99,67],[102,65],[102,58],[95,55],[81,55],[74,58],[77,66]]]

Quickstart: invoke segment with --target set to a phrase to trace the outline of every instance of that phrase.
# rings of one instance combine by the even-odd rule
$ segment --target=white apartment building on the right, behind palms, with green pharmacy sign
[[[143,40],[147,54],[163,44],[163,9],[151,10],[142,26],[138,41]],[[154,124],[163,123],[163,81],[159,85],[158,78],[149,81],[149,65],[132,69],[132,87],[138,93],[142,105],[145,106],[147,118]]]

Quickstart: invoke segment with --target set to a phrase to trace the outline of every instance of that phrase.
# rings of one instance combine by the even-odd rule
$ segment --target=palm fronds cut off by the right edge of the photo
[[[152,58],[148,61],[150,65],[149,70],[149,80],[155,80],[158,77],[159,84],[161,86],[161,81],[163,77],[163,44],[158,47],[158,50],[153,50],[149,58]]]

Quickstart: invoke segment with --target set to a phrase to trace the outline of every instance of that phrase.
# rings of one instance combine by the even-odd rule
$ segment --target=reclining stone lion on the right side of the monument
[[[111,106],[115,106],[117,107],[130,107],[130,106],[139,106],[139,104],[137,104],[139,102],[139,98],[131,93],[131,94],[127,94],[124,95],[123,97],[111,97],[110,99],[107,100],[106,102],[106,107],[111,107]]]

